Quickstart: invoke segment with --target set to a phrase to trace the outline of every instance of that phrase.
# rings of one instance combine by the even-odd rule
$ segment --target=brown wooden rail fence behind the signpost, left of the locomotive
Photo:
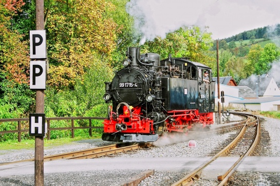
[[[50,139],[50,131],[55,130],[71,130],[71,137],[74,138],[74,129],[89,129],[89,136],[92,136],[92,129],[97,128],[103,128],[103,126],[92,126],[92,120],[104,120],[105,118],[99,118],[99,117],[56,117],[56,118],[46,118],[47,122],[47,139]],[[51,120],[71,120],[71,127],[57,127],[57,128],[51,128],[50,127],[50,121]],[[89,120],[89,126],[74,126],[74,120]],[[21,142],[22,137],[21,134],[24,132],[29,132],[28,129],[22,129],[21,128],[21,122],[28,121],[29,118],[13,118],[13,119],[0,119],[0,124],[2,122],[17,122],[17,129],[13,131],[0,131],[0,134],[8,134],[8,133],[17,133],[17,141]]]

